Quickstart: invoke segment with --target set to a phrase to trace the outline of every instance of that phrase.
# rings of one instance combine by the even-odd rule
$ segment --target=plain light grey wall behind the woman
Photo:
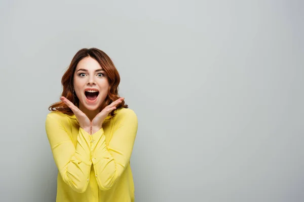
[[[303,1],[1,1],[1,201],[55,201],[45,133],[83,47],[121,75],[137,202],[303,201]]]

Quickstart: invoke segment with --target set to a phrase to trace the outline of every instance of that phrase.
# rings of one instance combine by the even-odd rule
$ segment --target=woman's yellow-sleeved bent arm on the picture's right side
[[[92,163],[97,184],[108,190],[119,179],[130,161],[136,133],[137,116],[132,110],[116,115],[111,140],[106,145],[103,128],[92,135]]]

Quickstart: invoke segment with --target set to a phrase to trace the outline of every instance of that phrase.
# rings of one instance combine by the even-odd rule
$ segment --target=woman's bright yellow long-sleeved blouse
[[[130,157],[137,116],[120,108],[90,135],[75,115],[50,112],[46,132],[58,168],[56,202],[134,201]]]

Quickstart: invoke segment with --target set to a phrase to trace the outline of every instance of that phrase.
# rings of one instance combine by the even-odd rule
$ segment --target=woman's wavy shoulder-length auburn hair
[[[73,95],[73,76],[74,72],[76,70],[76,67],[78,63],[86,58],[91,57],[95,59],[101,68],[106,73],[106,78],[109,82],[109,89],[106,98],[104,99],[104,102],[101,104],[99,112],[104,109],[106,106],[110,105],[115,100],[119,99],[120,96],[118,94],[119,90],[119,83],[120,83],[120,75],[113,64],[112,60],[100,49],[98,48],[83,48],[78,51],[75,56],[73,57],[68,69],[63,74],[61,78],[61,84],[63,86],[62,94],[61,96],[66,97],[68,100],[70,100],[71,103],[73,103],[75,106],[79,107],[79,98],[77,96]],[[116,106],[117,109],[119,108],[128,108],[128,105],[125,105],[125,101],[123,100],[122,103],[118,104]],[[67,115],[73,115],[73,111],[65,105],[62,101],[52,104],[49,107],[50,111],[57,111],[63,114]],[[111,115],[114,116],[114,111],[111,111]]]

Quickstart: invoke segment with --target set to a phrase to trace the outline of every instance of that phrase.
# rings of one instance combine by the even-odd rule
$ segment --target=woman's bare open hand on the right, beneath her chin
[[[105,120],[105,118],[108,116],[108,114],[116,109],[116,106],[120,104],[125,98],[120,97],[114,102],[112,102],[110,105],[106,106],[101,112],[99,112],[96,117],[91,122],[91,127],[92,127],[92,134],[97,132],[102,128],[102,123]]]

